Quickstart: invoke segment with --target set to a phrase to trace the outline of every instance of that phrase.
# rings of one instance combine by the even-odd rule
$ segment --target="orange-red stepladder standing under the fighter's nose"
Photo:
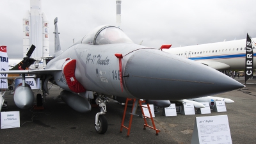
[[[133,100],[133,104],[132,104],[132,113],[131,113],[131,117],[130,117],[130,120],[129,120],[129,127],[125,127],[125,125],[124,125],[125,113],[126,113],[128,101],[130,101],[130,100]],[[158,132],[160,132],[160,130],[159,130],[159,129],[156,129],[156,125],[155,125],[155,123],[154,123],[154,119],[153,119],[153,117],[152,117],[152,113],[151,113],[151,111],[150,111],[150,106],[149,106],[148,102],[146,102],[146,103],[147,103],[147,106],[142,106],[142,103],[145,103],[145,102],[146,102],[146,100],[129,99],[129,98],[126,99],[125,108],[124,108],[124,115],[123,115],[123,120],[122,120],[122,124],[121,124],[120,133],[122,133],[123,127],[124,127],[125,129],[128,130],[128,131],[127,131],[127,137],[129,137],[129,134],[130,134],[130,131],[131,131],[131,125],[132,125],[132,116],[133,116],[133,115],[136,115],[136,111],[137,111],[137,108],[138,108],[138,104],[140,104],[141,113],[142,113],[142,116],[143,116],[144,122],[145,122],[143,129],[145,130],[146,127],[149,127],[150,129],[154,129],[154,130],[156,131],[156,136],[158,136]],[[149,112],[149,114],[150,114],[150,117],[149,117],[149,116],[145,116],[144,111],[143,111],[143,108],[147,108],[147,109],[148,109],[148,112]],[[150,126],[150,125],[148,125],[146,118],[149,118],[149,119],[151,120],[153,127]]]

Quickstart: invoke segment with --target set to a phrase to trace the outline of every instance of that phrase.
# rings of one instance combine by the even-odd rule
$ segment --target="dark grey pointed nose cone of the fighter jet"
[[[243,88],[218,70],[156,49],[141,49],[127,60],[124,86],[140,99],[204,97]]]

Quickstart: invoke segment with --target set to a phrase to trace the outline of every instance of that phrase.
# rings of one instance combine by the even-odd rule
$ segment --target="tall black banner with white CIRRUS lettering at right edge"
[[[253,49],[252,40],[247,33],[245,53],[245,82],[253,76]]]

